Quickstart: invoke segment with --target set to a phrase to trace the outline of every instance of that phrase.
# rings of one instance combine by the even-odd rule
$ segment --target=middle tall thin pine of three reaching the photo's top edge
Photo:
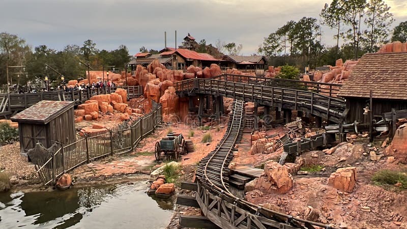
[[[358,59],[360,41],[362,38],[362,17],[366,13],[366,0],[342,0],[344,23],[351,26],[343,35],[346,40],[350,40],[354,48],[354,58]]]

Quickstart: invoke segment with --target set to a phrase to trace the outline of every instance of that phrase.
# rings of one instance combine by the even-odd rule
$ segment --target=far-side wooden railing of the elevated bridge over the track
[[[310,91],[318,94],[336,97],[339,93],[341,84],[338,83],[323,83],[293,79],[278,79],[278,78],[266,78],[261,76],[248,76],[248,75],[234,75],[234,74],[222,74],[213,77],[213,79],[227,80],[231,82],[243,82],[250,84],[259,84],[277,88],[288,88],[302,91]]]

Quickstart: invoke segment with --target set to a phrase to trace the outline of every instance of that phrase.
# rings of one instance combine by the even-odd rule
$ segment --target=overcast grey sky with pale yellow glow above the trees
[[[62,49],[91,39],[98,49],[126,45],[130,54],[177,45],[190,33],[199,42],[243,44],[254,53],[264,37],[289,20],[315,17],[330,0],[0,0],[0,32],[17,34],[33,47]],[[407,0],[388,0],[396,21],[407,20]],[[323,28],[325,44],[332,31]]]

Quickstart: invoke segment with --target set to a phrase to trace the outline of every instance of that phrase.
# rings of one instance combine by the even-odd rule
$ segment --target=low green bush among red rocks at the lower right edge
[[[372,181],[375,185],[395,185],[401,183],[400,188],[407,188],[407,175],[400,171],[392,171],[383,169],[377,171],[372,176]]]

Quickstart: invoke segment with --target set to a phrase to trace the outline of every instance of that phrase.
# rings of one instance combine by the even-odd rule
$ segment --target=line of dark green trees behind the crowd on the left
[[[17,35],[0,33],[0,75],[2,76],[0,85],[7,84],[7,67],[9,81],[13,84],[18,82],[24,85],[36,77],[44,80],[45,76],[48,76],[50,81],[60,81],[61,75],[46,68],[45,64],[64,75],[65,80],[84,78],[88,67],[80,64],[80,61],[89,64],[94,70],[102,70],[102,66],[115,66],[116,69],[123,70],[130,61],[130,55],[125,45],[120,45],[114,50],[99,50],[92,40],[84,41],[81,46],[67,45],[62,50],[55,50],[46,45],[39,45],[32,49]]]

